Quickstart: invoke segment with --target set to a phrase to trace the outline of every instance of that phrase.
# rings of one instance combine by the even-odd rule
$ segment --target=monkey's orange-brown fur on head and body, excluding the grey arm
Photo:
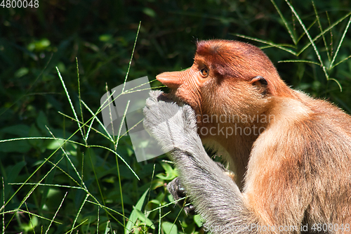
[[[204,67],[208,77],[199,73]],[[264,94],[253,85],[256,76],[267,81]],[[226,152],[258,223],[351,224],[351,117],[345,112],[290,89],[263,51],[239,41],[199,41],[192,67],[157,79],[195,110],[203,143]],[[211,115],[254,121],[205,122]],[[273,118],[260,121],[267,116]],[[253,125],[265,130],[230,137],[200,131]]]

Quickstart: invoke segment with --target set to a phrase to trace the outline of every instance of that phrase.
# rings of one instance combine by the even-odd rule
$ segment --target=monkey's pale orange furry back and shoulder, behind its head
[[[351,117],[300,92],[277,103],[274,123],[251,151],[244,189],[251,204],[279,221],[271,216],[299,204],[286,225],[350,223]]]

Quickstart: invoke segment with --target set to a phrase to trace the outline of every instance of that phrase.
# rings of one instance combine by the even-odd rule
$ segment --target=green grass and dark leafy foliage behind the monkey
[[[48,0],[0,7],[1,230],[201,233],[199,216],[186,216],[166,192],[177,176],[166,157],[138,163],[130,138],[109,136],[98,123],[106,86],[189,67],[197,39],[239,39],[261,46],[293,88],[351,112],[349,5]]]

